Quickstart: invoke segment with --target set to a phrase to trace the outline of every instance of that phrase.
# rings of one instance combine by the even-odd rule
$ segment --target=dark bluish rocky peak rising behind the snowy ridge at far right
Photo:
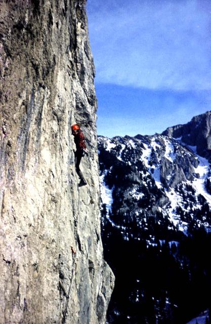
[[[181,137],[184,143],[196,146],[199,155],[211,157],[211,111],[194,116],[187,124],[169,127],[162,134]]]

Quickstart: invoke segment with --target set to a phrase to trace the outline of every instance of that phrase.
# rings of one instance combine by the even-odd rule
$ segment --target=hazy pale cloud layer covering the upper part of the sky
[[[211,89],[210,12],[205,3],[118,0],[97,6],[90,0],[96,82]]]

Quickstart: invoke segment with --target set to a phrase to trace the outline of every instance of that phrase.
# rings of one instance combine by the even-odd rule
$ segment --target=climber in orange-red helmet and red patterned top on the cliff
[[[77,124],[72,125],[71,127],[72,135],[74,136],[74,142],[76,145],[76,151],[75,154],[75,169],[77,172],[78,177],[80,178],[79,186],[85,186],[87,184],[87,181],[82,175],[82,172],[80,171],[79,165],[81,157],[88,153],[86,144],[85,144],[85,136],[79,129],[79,126]]]

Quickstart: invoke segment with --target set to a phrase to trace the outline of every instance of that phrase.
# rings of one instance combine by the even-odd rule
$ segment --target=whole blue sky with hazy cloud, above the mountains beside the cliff
[[[98,135],[160,133],[211,110],[211,2],[88,0]]]

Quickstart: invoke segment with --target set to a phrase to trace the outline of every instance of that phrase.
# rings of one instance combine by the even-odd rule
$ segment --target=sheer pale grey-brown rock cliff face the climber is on
[[[105,322],[114,280],[102,256],[85,5],[0,0],[1,324]],[[89,149],[80,188],[75,122]]]

